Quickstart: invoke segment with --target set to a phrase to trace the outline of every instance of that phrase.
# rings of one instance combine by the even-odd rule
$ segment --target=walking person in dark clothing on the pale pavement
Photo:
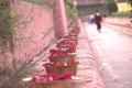
[[[98,32],[101,32],[101,21],[102,21],[102,16],[100,15],[99,11],[96,11],[96,13],[95,13],[95,23],[97,25]]]

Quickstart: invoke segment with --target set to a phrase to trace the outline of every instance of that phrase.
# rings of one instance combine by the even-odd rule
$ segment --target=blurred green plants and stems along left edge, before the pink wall
[[[31,10],[31,13],[33,10],[34,9]],[[24,11],[22,12],[24,13]],[[24,38],[14,37],[15,30],[21,31],[21,29],[25,29],[33,19],[30,14],[24,18],[22,12],[16,14],[12,13],[11,15],[10,4],[0,6],[0,88],[23,88],[20,82],[21,78],[28,74],[32,74],[30,69],[42,59],[40,55],[42,55],[54,42],[53,40],[47,46],[42,47],[42,51],[34,56],[25,55],[25,61],[19,61],[19,58],[15,58],[14,48],[16,46],[14,41],[21,43],[21,38]],[[48,29],[47,32],[44,32],[43,38],[45,38],[52,31],[53,29]],[[8,54],[11,56],[8,56]],[[35,57],[38,57],[38,59],[33,61]]]

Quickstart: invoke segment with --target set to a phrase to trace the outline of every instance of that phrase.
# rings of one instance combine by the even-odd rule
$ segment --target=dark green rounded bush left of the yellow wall
[[[117,3],[114,2],[114,0],[109,0],[109,1],[107,1],[106,6],[107,6],[107,9],[109,10],[110,14],[111,14],[112,12],[117,12],[117,11],[118,11],[118,6],[117,6]]]

